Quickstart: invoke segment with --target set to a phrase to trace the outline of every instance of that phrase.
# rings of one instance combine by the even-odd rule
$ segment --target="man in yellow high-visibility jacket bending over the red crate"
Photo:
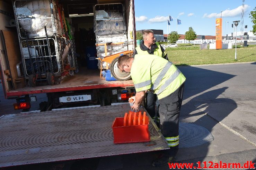
[[[185,76],[170,61],[155,55],[120,56],[117,63],[122,72],[131,72],[136,89],[132,109],[138,111],[145,93],[150,90],[159,99],[160,129],[170,150],[152,162],[155,167],[174,160],[179,144],[179,111],[182,105]],[[130,98],[131,99],[131,98]],[[129,100],[130,100],[129,99]]]

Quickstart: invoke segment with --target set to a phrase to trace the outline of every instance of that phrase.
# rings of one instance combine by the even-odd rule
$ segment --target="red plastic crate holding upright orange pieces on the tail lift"
[[[149,118],[146,112],[129,111],[124,118],[115,118],[112,129],[114,143],[133,143],[150,141]]]

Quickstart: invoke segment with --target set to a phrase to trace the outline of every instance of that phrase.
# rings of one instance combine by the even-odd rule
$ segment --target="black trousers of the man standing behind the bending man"
[[[157,94],[154,94],[151,91],[147,91],[145,100],[146,100],[145,109],[149,113],[150,117],[151,118],[155,116],[159,117],[159,113],[158,113],[159,101],[157,99]]]

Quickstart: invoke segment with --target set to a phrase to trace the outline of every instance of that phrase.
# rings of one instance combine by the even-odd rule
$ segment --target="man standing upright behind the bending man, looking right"
[[[168,60],[167,53],[164,48],[156,42],[154,32],[152,30],[143,31],[143,40],[140,43],[140,46],[136,47],[134,50],[135,54],[145,55],[145,54],[154,54],[156,56],[165,58]],[[155,105],[157,108],[155,108]],[[145,109],[148,111],[149,115],[153,120],[156,120],[157,125],[159,125],[159,102],[157,95],[151,91],[147,91],[145,94]]]

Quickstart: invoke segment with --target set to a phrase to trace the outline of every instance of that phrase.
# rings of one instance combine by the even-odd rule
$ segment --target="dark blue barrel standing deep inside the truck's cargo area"
[[[86,47],[87,69],[98,69],[98,60],[96,47]]]

